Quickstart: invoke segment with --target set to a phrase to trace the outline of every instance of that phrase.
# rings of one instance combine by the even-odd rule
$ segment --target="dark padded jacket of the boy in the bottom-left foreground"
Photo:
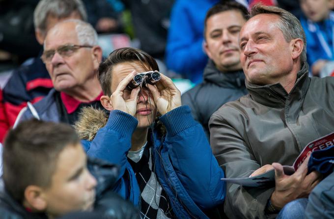
[[[118,167],[98,159],[88,159],[88,169],[97,180],[94,212],[105,219],[140,219],[139,210],[112,191],[118,175]],[[83,212],[83,214],[85,214]],[[0,180],[1,219],[48,219],[43,213],[29,213],[8,192]]]

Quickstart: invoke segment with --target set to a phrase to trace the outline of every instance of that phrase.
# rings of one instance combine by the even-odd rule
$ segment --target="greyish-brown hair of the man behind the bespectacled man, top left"
[[[49,15],[61,19],[69,17],[73,12],[78,12],[83,21],[87,20],[87,13],[82,0],[40,0],[33,13],[35,29],[46,34]]]

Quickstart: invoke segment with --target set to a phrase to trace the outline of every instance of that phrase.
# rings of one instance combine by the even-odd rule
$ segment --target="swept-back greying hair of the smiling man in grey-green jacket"
[[[282,31],[286,42],[292,39],[302,39],[304,42],[303,52],[300,55],[301,61],[306,62],[306,36],[300,21],[290,12],[274,6],[265,6],[262,4],[255,4],[251,8],[251,17],[258,14],[276,14],[279,16],[277,27]]]

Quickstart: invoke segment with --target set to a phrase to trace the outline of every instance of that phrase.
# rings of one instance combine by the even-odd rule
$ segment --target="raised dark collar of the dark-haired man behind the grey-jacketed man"
[[[245,87],[245,74],[242,70],[221,72],[211,59],[205,66],[203,77],[204,82],[215,83],[220,87]]]

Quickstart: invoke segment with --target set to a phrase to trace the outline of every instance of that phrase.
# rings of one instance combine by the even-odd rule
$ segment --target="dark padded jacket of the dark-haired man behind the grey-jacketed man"
[[[220,72],[212,60],[204,69],[204,81],[182,95],[182,105],[192,109],[192,115],[210,137],[209,119],[223,104],[247,94],[245,75],[242,70]]]

